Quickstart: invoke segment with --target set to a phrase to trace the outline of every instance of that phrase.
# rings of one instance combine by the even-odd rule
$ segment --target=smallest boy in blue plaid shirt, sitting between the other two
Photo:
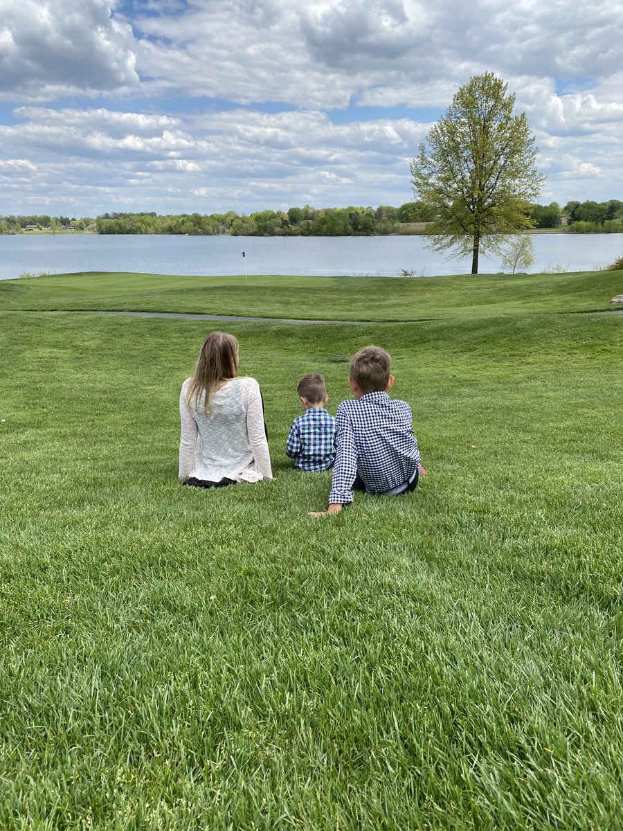
[[[292,422],[286,453],[298,470],[326,470],[336,458],[336,420],[325,410],[324,378],[316,373],[302,377],[297,393],[305,415]]]

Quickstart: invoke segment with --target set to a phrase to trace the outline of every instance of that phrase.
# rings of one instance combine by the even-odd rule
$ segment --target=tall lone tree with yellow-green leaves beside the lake
[[[515,96],[493,72],[461,86],[411,162],[416,199],[435,209],[429,248],[451,256],[498,253],[505,234],[530,228],[531,203],[544,176],[526,114],[513,116]]]

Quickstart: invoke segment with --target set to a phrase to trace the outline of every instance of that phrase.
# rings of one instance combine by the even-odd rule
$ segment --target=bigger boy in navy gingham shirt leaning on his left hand
[[[364,347],[351,361],[348,381],[355,401],[337,408],[337,455],[329,509],[314,517],[338,514],[350,504],[353,489],[397,496],[415,490],[419,450],[410,406],[392,400],[391,358],[380,347]]]

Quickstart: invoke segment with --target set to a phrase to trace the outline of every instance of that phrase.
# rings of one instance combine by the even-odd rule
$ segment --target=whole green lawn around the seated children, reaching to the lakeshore
[[[0,283],[0,829],[623,828],[623,315],[565,310],[621,273],[263,278],[248,314],[421,291],[436,319],[227,324],[277,479],[213,491],[176,479],[208,322],[18,309],[240,313],[246,287],[95,279]],[[297,381],[335,412],[366,343],[429,475],[314,521]]]

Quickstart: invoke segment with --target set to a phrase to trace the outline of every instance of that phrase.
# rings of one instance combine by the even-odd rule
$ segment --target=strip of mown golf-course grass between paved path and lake
[[[0,309],[203,312],[252,317],[410,321],[608,308],[621,272],[433,278],[172,277],[54,274],[0,281]]]

